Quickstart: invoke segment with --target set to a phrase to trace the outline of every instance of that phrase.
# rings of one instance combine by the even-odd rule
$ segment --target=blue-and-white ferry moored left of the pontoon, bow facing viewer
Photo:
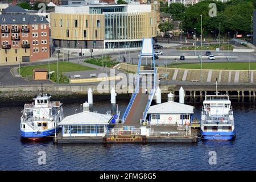
[[[49,94],[38,94],[32,104],[25,104],[20,118],[20,135],[29,140],[42,140],[60,130],[63,118],[62,104],[50,101]]]

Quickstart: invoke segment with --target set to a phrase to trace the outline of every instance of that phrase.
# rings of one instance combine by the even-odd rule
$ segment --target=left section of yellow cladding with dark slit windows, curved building
[[[77,27],[75,27],[77,20]],[[86,27],[86,20],[88,27]],[[97,20],[100,26],[97,27]],[[51,13],[51,36],[53,39],[64,40],[104,40],[105,16],[104,14],[56,14]],[[62,27],[61,27],[62,25]],[[67,37],[67,30],[69,37]],[[86,37],[84,37],[86,30]],[[96,38],[97,30],[97,38]]]

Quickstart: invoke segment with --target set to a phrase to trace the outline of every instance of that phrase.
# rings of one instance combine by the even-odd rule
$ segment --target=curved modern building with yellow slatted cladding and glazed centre
[[[141,47],[143,37],[156,36],[151,5],[56,6],[51,38],[61,48]]]

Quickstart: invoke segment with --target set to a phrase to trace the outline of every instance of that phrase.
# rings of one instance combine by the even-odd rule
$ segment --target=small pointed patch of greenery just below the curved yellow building
[[[102,62],[103,62],[103,66],[104,67],[114,67],[114,65],[118,64],[117,60],[112,60],[111,56],[104,56],[103,57],[103,61],[102,61],[102,57],[101,58],[90,58],[90,59],[86,59],[84,60],[85,63],[90,63],[90,64],[94,64],[94,65],[98,65],[100,67],[102,67]]]

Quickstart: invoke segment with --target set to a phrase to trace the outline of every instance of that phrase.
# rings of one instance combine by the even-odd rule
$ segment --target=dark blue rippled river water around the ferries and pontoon
[[[128,101],[117,101],[126,109]],[[53,144],[20,140],[23,107],[0,106],[0,170],[256,170],[255,104],[232,104],[237,138],[230,142],[199,140],[194,144]],[[65,104],[64,115],[80,111],[80,103]],[[200,118],[200,105],[195,105]],[[110,101],[94,103],[105,113]],[[39,165],[39,151],[46,164]],[[216,151],[217,164],[209,164]]]

